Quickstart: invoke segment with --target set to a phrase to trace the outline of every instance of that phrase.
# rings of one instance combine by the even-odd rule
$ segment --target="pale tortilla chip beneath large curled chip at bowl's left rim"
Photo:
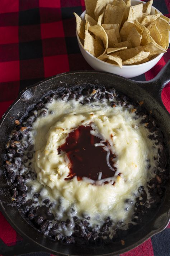
[[[95,57],[100,56],[104,52],[104,48],[87,30],[85,30],[84,49]]]

